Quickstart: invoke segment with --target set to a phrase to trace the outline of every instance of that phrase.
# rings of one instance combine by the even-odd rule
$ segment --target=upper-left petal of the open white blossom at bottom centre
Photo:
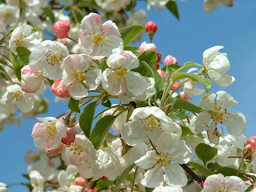
[[[136,164],[136,166],[139,166],[142,169],[147,170],[153,167],[156,164],[157,160],[158,160],[158,155],[156,151],[150,150],[150,151],[147,151],[144,156],[139,158],[134,163]]]

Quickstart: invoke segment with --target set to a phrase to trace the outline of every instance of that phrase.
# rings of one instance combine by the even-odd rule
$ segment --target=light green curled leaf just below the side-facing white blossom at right
[[[201,82],[202,85],[205,87],[207,93],[209,93],[211,84],[213,83],[207,78],[198,77],[196,74],[174,73],[171,74],[170,77],[174,82],[177,82],[179,79],[182,78],[190,78],[194,82]]]

